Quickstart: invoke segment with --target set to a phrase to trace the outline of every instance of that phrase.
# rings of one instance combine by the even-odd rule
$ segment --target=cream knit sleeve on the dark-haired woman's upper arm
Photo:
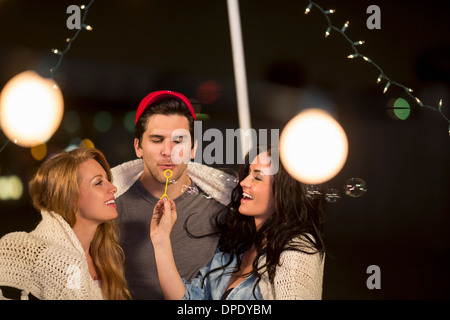
[[[287,250],[281,254],[274,279],[276,300],[322,299],[324,256]]]

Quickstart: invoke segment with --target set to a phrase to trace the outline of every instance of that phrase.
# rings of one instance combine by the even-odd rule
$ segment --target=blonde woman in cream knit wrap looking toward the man
[[[94,148],[55,155],[29,189],[42,221],[0,239],[0,288],[19,289],[22,299],[129,299],[114,222],[117,189],[104,155]]]

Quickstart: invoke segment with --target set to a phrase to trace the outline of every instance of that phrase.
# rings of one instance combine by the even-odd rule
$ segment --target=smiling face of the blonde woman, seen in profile
[[[117,218],[114,193],[117,188],[108,181],[106,171],[94,159],[79,167],[81,176],[77,222],[100,224]]]

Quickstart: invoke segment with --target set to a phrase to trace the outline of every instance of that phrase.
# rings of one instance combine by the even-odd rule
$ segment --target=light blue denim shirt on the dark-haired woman
[[[200,269],[196,278],[190,282],[183,279],[186,291],[183,300],[221,300],[231,278],[231,273],[236,267],[236,258],[225,269],[220,269],[210,273],[206,280],[203,279],[205,275],[212,269],[225,265],[230,259],[229,254],[217,251],[212,260]],[[253,275],[245,278],[239,283],[226,297],[226,300],[255,300],[253,295],[253,288],[256,279]],[[255,289],[256,299],[262,300],[262,295],[259,286]]]

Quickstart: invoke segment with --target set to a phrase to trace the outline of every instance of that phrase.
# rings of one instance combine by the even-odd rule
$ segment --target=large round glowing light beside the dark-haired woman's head
[[[347,160],[348,142],[339,123],[326,111],[306,109],[280,135],[280,159],[288,173],[305,184],[333,178]]]

